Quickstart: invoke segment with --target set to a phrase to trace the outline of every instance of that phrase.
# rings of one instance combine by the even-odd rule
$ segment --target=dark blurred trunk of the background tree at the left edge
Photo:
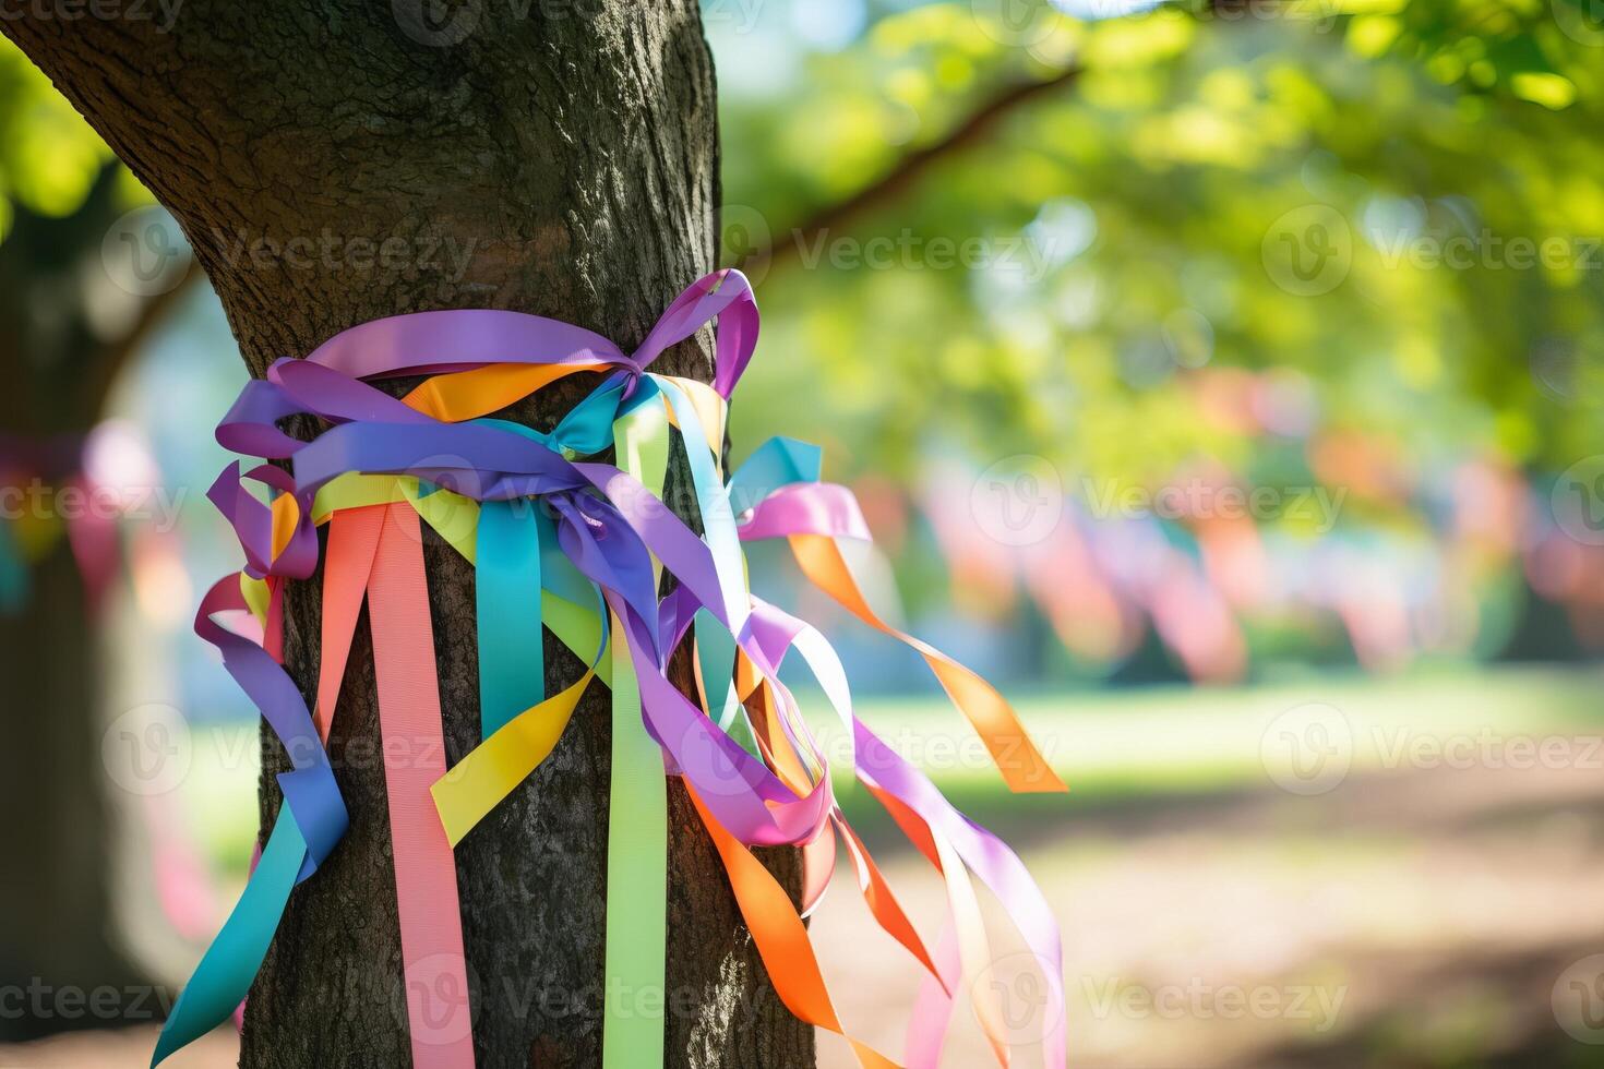
[[[22,447],[55,454],[58,468],[74,466],[72,442],[103,402],[107,346],[85,316],[82,258],[99,255],[115,216],[103,176],[69,218],[19,212],[0,245],[0,439],[14,436]],[[56,486],[66,473],[35,474]],[[50,508],[50,498],[43,503]],[[64,540],[32,569],[30,583],[22,612],[0,612],[8,732],[0,813],[27,814],[10,816],[5,832],[11,861],[0,872],[0,987],[122,989],[143,981],[111,931],[98,628]],[[18,1015],[13,1006],[0,1015],[0,1042],[104,1024],[87,1013],[29,1006]]]

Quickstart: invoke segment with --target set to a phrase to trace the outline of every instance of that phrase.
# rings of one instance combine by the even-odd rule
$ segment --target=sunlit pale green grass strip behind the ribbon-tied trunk
[[[1400,745],[1466,736],[1501,744],[1596,734],[1604,731],[1601,692],[1604,670],[1598,668],[1464,668],[1015,697],[1031,736],[1070,784],[1068,800],[1009,795],[974,732],[940,694],[873,697],[858,712],[881,737],[924,766],[961,809],[982,819],[1001,813],[1019,821],[1150,797],[1269,787],[1261,760],[1264,732],[1277,715],[1306,702],[1341,710],[1352,731],[1352,771],[1365,774],[1395,764]],[[816,696],[800,697],[805,708],[824,710],[810,712],[810,720],[837,761],[837,790],[849,813],[857,814],[866,808],[866,797],[844,766],[842,731],[829,723],[828,707]],[[253,737],[253,724],[197,732],[183,787],[184,819],[225,870],[242,870],[257,832]]]

